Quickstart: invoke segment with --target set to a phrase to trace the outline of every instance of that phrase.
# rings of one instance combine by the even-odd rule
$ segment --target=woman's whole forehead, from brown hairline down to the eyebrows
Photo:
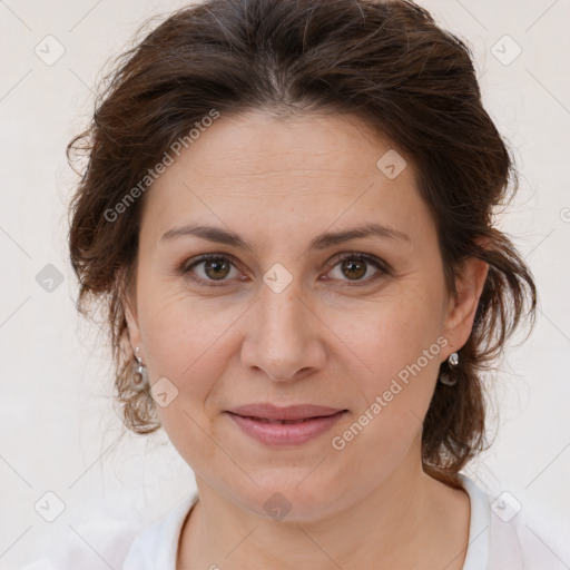
[[[384,223],[421,238],[433,229],[430,214],[409,159],[397,176],[386,176],[383,157],[401,157],[399,170],[404,164],[394,153],[354,116],[222,115],[155,181],[142,225],[157,234],[190,222],[227,222],[288,228],[291,237],[301,225],[316,234]]]

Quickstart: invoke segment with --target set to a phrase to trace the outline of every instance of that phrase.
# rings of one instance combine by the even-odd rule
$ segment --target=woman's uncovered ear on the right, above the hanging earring
[[[484,245],[482,242],[478,242]],[[444,336],[453,351],[459,351],[471,335],[479,298],[489,273],[489,264],[475,257],[463,263],[455,278],[456,295],[451,295],[444,320]]]

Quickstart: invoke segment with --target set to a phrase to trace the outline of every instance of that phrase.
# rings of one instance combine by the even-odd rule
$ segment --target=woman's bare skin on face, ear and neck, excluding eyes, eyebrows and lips
[[[470,259],[458,295],[448,293],[411,158],[394,179],[376,167],[391,148],[355,117],[222,116],[146,196],[125,305],[150,383],[166,376],[178,390],[157,409],[196,475],[199,500],[177,568],[462,568],[469,498],[423,472],[421,430],[441,362],[470,335],[488,265]],[[189,223],[230,229],[254,249],[191,235],[161,239]],[[308,248],[321,233],[366,223],[409,239]],[[391,273],[372,264],[365,274],[343,269],[338,254],[350,252],[387,263]],[[205,253],[233,265],[177,271]],[[281,293],[263,281],[276,263],[293,279]],[[448,343],[441,352],[335,450],[332,438],[438,337]],[[274,448],[223,413],[254,402],[348,414],[307,443]],[[277,492],[291,503],[278,521],[264,508]]]

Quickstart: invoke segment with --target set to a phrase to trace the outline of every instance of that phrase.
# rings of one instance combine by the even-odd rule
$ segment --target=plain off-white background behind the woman
[[[509,352],[497,375],[495,443],[466,473],[491,494],[509,491],[523,509],[539,504],[556,521],[570,507],[570,6],[568,0],[420,3],[472,47],[484,104],[517,150],[521,187],[500,225],[530,264],[540,294],[533,335]],[[154,521],[194,488],[190,469],[163,432],[127,434],[117,443],[122,430],[112,410],[105,334],[76,315],[77,284],[66,250],[66,205],[76,178],[65,147],[89,120],[100,71],[147,18],[181,6],[0,2],[0,566],[6,568],[39,558],[47,543],[61,539],[87,549],[69,527],[82,520]],[[66,50],[52,66],[35,53],[48,35]],[[522,48],[508,66],[493,55],[504,35]],[[498,48],[512,53],[504,40]],[[51,293],[36,282],[47,264],[65,276]],[[66,505],[51,523],[33,509],[47,491]]]

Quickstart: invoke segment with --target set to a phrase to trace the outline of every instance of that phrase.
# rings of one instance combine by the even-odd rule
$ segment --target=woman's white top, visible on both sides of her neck
[[[564,540],[544,534],[529,522],[520,503],[508,493],[491,500],[465,475],[460,475],[471,501],[469,548],[463,570],[568,570],[570,550]],[[52,557],[22,570],[176,570],[183,523],[198,495],[193,492],[161,520],[140,524],[97,523],[87,544],[60,546]],[[561,534],[560,534],[561,537]],[[97,548],[95,548],[95,546]],[[96,550],[97,556],[94,553]]]

